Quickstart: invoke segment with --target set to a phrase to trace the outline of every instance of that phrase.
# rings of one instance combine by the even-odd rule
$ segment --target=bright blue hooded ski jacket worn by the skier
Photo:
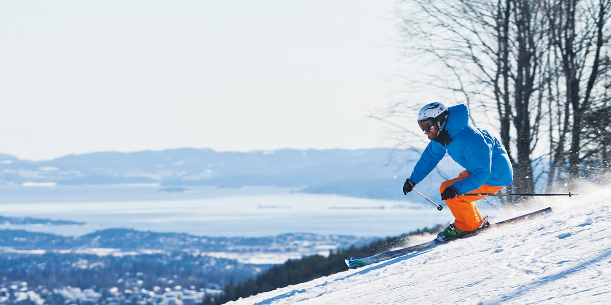
[[[467,193],[481,185],[504,186],[513,181],[513,168],[505,146],[488,131],[469,126],[469,110],[464,104],[448,107],[450,114],[445,129],[452,141],[447,145],[431,140],[412,171],[411,179],[419,183],[448,152],[467,170],[469,177],[454,182],[459,193]]]

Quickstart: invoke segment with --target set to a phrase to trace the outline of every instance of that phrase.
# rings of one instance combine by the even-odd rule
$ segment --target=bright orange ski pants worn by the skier
[[[443,193],[445,188],[449,187],[454,182],[461,181],[467,177],[469,177],[469,173],[467,173],[467,171],[463,171],[458,174],[458,177],[442,182],[441,187],[439,188],[439,193]],[[484,184],[469,193],[495,193],[501,190],[503,187],[504,186],[492,187]],[[478,201],[484,197],[486,196],[456,196],[454,198],[445,200],[445,204],[450,208],[450,211],[452,211],[454,218],[456,218],[454,221],[456,228],[461,231],[474,231],[475,229],[479,228],[482,219],[480,209],[478,209],[475,205],[475,201]]]

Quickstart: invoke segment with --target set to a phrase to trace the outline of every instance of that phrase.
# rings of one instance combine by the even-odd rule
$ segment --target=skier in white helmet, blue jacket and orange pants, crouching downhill
[[[418,113],[418,125],[431,142],[405,181],[403,194],[408,195],[448,152],[466,170],[442,182],[439,188],[455,221],[439,232],[437,239],[455,239],[486,226],[474,203],[485,196],[458,194],[495,193],[513,181],[513,168],[503,144],[488,131],[469,126],[469,110],[464,104],[449,108],[441,102],[426,104]]]

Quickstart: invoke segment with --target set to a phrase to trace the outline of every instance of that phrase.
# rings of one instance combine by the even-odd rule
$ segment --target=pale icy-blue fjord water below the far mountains
[[[73,236],[106,228],[133,228],[209,236],[310,232],[384,237],[445,223],[451,217],[449,211],[439,212],[407,199],[312,195],[276,187],[163,190],[156,185],[0,187],[0,215],[86,223],[0,224],[0,229]]]

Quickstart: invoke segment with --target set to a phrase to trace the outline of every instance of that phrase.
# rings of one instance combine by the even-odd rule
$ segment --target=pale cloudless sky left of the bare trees
[[[0,152],[391,146],[393,5],[1,1]]]

